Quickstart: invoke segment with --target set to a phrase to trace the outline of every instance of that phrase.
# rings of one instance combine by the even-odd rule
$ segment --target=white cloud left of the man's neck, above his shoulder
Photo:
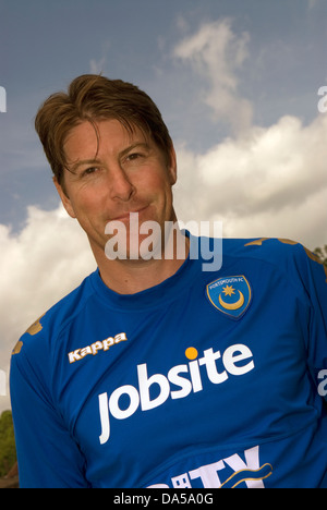
[[[0,226],[0,371],[20,336],[95,269],[87,238],[62,206],[28,208],[25,228],[13,235]],[[3,403],[5,400],[5,404]],[[9,405],[1,397],[0,406]]]

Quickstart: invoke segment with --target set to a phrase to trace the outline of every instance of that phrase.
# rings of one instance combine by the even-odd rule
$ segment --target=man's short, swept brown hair
[[[170,161],[172,141],[161,113],[137,86],[97,74],[83,74],[70,84],[68,94],[52,94],[39,108],[35,129],[58,182],[66,168],[63,145],[69,132],[83,121],[116,119],[129,131],[138,127],[150,136]]]

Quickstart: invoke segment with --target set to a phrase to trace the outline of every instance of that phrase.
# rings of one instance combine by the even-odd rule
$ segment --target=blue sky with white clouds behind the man
[[[40,104],[85,73],[138,85],[175,145],[181,220],[314,250],[326,44],[326,0],[0,0],[0,384],[20,336],[95,269],[34,131]]]

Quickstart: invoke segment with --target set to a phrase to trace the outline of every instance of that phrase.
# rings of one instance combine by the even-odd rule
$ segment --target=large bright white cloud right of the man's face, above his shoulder
[[[306,126],[283,117],[204,155],[181,148],[180,218],[222,220],[226,236],[293,238],[312,250],[325,244],[326,131],[327,116]]]

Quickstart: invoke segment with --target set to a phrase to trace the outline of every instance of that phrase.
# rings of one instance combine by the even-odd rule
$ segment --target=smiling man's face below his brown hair
[[[171,161],[140,130],[130,134],[120,122],[85,121],[68,135],[64,151],[64,191],[57,190],[70,216],[85,230],[96,254],[104,252],[109,221],[122,221],[129,238],[130,212],[138,212],[138,222],[175,220],[171,186],[177,179],[175,156]]]

